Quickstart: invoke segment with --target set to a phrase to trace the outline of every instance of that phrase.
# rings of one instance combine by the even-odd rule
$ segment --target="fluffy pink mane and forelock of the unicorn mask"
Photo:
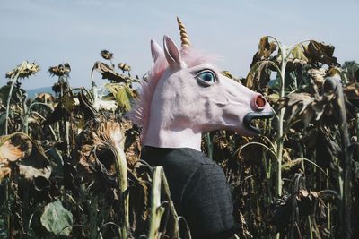
[[[185,53],[183,52],[184,51],[182,50],[180,51],[181,59],[188,67],[204,64],[213,59],[213,57],[198,53],[191,48],[186,49]],[[165,56],[161,55],[153,64],[150,73],[148,73],[147,81],[142,81],[141,89],[139,90],[139,99],[136,100],[135,106],[128,113],[128,116],[133,123],[138,126],[142,126],[142,141],[144,140],[148,130],[154,90],[168,67],[169,64],[167,63]]]

